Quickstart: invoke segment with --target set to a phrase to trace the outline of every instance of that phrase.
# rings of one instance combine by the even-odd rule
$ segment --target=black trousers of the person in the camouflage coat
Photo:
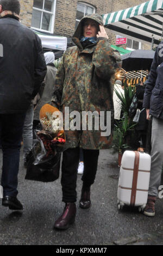
[[[70,148],[64,151],[62,159],[62,201],[65,203],[77,200],[77,170],[80,148]],[[91,186],[96,177],[99,150],[83,149],[84,172],[82,175],[84,187]]]

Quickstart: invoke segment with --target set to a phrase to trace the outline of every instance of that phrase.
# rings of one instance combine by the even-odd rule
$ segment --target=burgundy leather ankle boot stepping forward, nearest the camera
[[[54,228],[67,229],[70,224],[74,223],[76,217],[76,204],[66,203],[62,215],[54,223]]]

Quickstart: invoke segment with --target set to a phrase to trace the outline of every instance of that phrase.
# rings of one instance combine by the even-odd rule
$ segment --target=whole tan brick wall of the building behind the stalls
[[[76,25],[76,13],[77,3],[83,2],[93,5],[96,8],[97,14],[106,14],[113,11],[118,11],[133,7],[137,4],[145,2],[145,0],[57,0],[54,22],[54,33],[57,35],[64,35],[71,37],[75,30]],[[21,22],[29,26],[32,21],[32,7],[33,0],[20,0],[21,3]],[[110,44],[115,44],[116,35],[110,33],[109,29],[106,29],[109,35]],[[123,47],[123,46],[122,46]],[[149,45],[142,45],[142,48],[148,49]]]

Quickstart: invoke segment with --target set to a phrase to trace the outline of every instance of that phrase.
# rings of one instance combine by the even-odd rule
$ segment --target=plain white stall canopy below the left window
[[[53,36],[53,35],[46,35],[46,34],[38,32],[38,31],[34,31],[34,32],[37,35],[39,35],[43,48],[50,48],[52,50],[66,51],[66,49],[67,49],[66,36]]]

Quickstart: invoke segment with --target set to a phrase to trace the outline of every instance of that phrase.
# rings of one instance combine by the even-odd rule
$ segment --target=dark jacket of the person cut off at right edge
[[[163,119],[163,41],[156,49],[151,71],[146,83],[143,107],[149,108],[153,117]]]

